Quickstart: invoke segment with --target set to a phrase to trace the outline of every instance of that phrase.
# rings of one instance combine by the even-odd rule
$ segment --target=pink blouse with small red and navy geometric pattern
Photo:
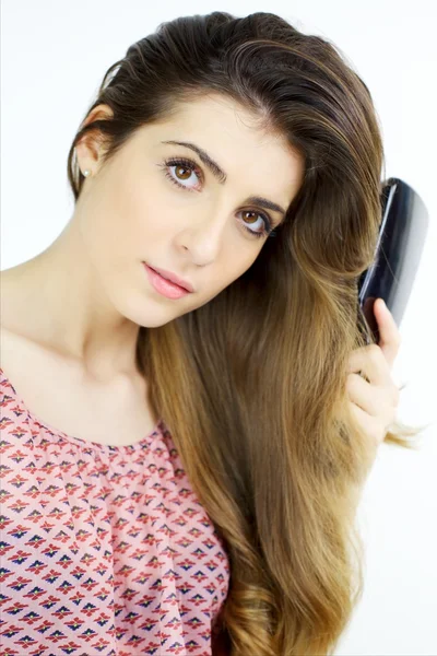
[[[0,368],[0,656],[211,656],[229,561],[163,421],[67,435]]]

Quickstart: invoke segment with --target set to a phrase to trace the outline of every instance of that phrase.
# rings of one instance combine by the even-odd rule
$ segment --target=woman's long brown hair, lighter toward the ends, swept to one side
[[[339,49],[264,12],[162,23],[105,74],[68,156],[94,131],[108,162],[141,126],[211,92],[288,140],[305,177],[275,238],[205,305],[140,327],[137,363],[227,548],[220,628],[233,656],[332,653],[363,591],[354,518],[374,460],[346,399],[366,345],[357,281],[380,222],[383,150],[370,93]],[[386,442],[415,447],[397,422]]]

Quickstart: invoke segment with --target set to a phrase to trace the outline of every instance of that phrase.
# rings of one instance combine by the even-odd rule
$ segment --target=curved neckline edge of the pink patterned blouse
[[[16,391],[14,385],[12,384],[12,380],[9,378],[9,376],[5,374],[3,367],[1,367],[1,366],[0,366],[0,379],[1,379],[1,382],[4,382],[4,380],[8,382],[8,384],[12,388],[13,395],[15,397],[15,402],[17,402],[22,407],[22,409],[27,414],[27,417],[31,421],[38,424],[40,427],[45,429],[46,431],[48,431],[48,433],[50,433],[57,437],[61,437],[61,438],[66,440],[67,442],[70,442],[71,444],[76,444],[78,446],[85,446],[85,447],[94,448],[97,450],[109,450],[113,453],[114,452],[117,452],[117,453],[132,452],[132,450],[141,449],[145,445],[149,445],[152,441],[153,435],[156,433],[161,433],[162,429],[163,429],[163,420],[158,419],[158,421],[153,426],[152,431],[149,434],[146,434],[144,437],[139,440],[138,442],[133,442],[133,444],[119,444],[119,445],[104,444],[101,442],[94,442],[92,440],[84,440],[83,437],[76,437],[75,435],[70,435],[69,433],[66,433],[64,431],[61,431],[60,429],[57,429],[57,427],[50,425],[45,420],[43,420],[37,414],[35,414],[35,412],[33,412],[27,407],[27,405],[25,403],[25,401],[23,400],[21,395]]]

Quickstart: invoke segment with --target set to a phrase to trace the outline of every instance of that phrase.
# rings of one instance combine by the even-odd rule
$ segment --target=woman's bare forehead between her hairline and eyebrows
[[[262,130],[259,125],[259,118],[232,98],[210,94],[179,104],[172,117],[145,128],[152,150],[169,152],[177,148],[163,145],[165,140],[193,142],[223,168],[226,188],[265,191],[287,206],[302,183],[302,156],[283,134]]]

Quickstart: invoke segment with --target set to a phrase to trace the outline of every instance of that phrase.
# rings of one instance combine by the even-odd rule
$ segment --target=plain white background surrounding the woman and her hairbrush
[[[1,269],[40,253],[62,231],[73,211],[67,153],[83,113],[107,68],[161,22],[214,10],[237,16],[271,11],[333,40],[373,94],[387,177],[405,180],[428,208],[428,238],[400,326],[393,377],[408,382],[400,419],[432,423],[418,453],[380,447],[358,512],[365,593],[336,654],[437,655],[436,3],[154,4],[2,0]]]

